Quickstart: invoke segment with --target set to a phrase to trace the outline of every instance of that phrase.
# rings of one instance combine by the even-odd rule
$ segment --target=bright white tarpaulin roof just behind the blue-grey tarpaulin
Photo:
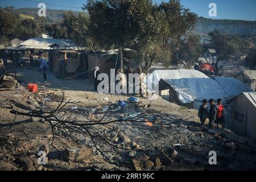
[[[152,85],[152,89],[155,85],[158,85],[159,81],[180,79],[180,78],[209,78],[204,73],[192,69],[173,69],[173,70],[155,70],[147,76],[147,84]]]

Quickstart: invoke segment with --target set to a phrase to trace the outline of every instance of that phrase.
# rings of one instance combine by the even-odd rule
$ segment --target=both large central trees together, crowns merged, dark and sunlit
[[[119,48],[121,68],[122,49],[130,46],[137,50],[146,73],[154,61],[171,61],[170,38],[186,37],[196,22],[196,14],[179,0],[160,5],[151,0],[90,0],[84,9],[90,15],[93,38],[104,47]]]

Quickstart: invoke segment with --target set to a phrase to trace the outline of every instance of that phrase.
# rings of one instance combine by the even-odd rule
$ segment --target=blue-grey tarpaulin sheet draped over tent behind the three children
[[[236,97],[242,92],[253,92],[246,85],[235,78],[215,77],[215,78],[181,78],[164,80],[177,92],[178,99],[183,103],[192,101],[228,100]]]

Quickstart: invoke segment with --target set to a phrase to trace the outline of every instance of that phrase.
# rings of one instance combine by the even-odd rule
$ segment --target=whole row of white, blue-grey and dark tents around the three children
[[[225,122],[234,133],[256,139],[256,93],[231,77],[209,78],[193,70],[155,71],[148,81],[171,102],[199,109],[204,99],[222,98]],[[166,91],[168,90],[168,91]]]

